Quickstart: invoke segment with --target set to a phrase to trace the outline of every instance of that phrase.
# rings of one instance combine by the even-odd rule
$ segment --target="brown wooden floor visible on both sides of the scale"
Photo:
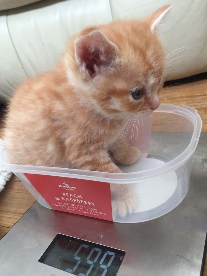
[[[202,131],[207,132],[207,73],[166,83],[166,87],[161,93],[161,103],[185,104],[194,107],[203,120]],[[2,136],[2,128],[1,122],[0,137]],[[33,196],[13,175],[0,193],[0,238],[9,231],[34,202]],[[203,275],[207,276],[207,262]]]

